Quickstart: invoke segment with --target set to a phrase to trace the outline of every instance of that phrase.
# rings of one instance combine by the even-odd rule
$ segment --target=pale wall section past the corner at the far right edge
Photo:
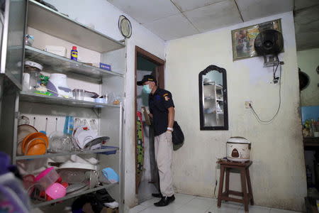
[[[319,105],[319,75],[315,69],[319,65],[319,49],[303,50],[297,52],[298,67],[306,72],[310,84],[301,91],[301,106]]]

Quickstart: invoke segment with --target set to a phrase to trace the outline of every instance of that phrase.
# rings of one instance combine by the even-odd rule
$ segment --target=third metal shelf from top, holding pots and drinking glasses
[[[103,108],[103,107],[120,107],[116,104],[102,104],[96,102],[86,102],[75,99],[67,99],[63,97],[46,96],[43,94],[35,94],[33,92],[20,92],[20,101],[22,102],[34,102],[43,104],[56,104],[65,105],[70,107],[83,107],[83,108]]]

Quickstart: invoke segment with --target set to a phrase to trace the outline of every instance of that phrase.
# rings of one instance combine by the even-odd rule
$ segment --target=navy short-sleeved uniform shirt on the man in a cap
[[[157,87],[154,94],[150,94],[148,99],[148,106],[150,113],[153,114],[153,125],[155,129],[155,136],[167,131],[168,127],[168,110],[169,107],[174,107],[172,94],[165,89]]]

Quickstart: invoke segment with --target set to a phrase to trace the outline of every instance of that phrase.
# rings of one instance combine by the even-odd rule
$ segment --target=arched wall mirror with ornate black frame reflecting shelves
[[[201,130],[228,130],[226,70],[215,65],[198,75]]]

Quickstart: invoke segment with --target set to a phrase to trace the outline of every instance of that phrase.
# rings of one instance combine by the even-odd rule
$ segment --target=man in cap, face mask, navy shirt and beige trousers
[[[152,75],[145,75],[138,85],[143,86],[143,92],[149,94],[150,117],[155,129],[155,159],[162,194],[152,195],[161,197],[159,202],[155,202],[155,206],[164,207],[175,200],[172,178],[174,102],[169,91],[157,87]]]

